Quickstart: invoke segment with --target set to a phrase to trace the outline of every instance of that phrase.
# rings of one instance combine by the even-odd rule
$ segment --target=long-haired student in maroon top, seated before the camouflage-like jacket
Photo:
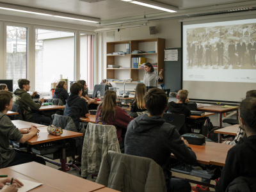
[[[116,105],[116,93],[113,90],[106,90],[103,102],[99,105],[96,113],[96,124],[114,125],[120,145],[121,152],[124,152],[124,140],[122,129],[127,129],[133,117],[127,115],[124,109]]]

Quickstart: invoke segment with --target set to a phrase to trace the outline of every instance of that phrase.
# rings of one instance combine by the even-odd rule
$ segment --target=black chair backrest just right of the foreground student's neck
[[[180,131],[181,127],[185,124],[184,114],[164,113],[163,119],[166,123],[174,125],[177,131]]]

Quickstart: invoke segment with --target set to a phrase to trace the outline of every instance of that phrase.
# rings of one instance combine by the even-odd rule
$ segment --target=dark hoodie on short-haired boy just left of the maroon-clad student
[[[80,117],[85,116],[86,113],[89,113],[87,102],[83,98],[79,97],[79,95],[71,93],[67,99],[64,116],[70,116],[76,125],[76,129],[80,130]]]

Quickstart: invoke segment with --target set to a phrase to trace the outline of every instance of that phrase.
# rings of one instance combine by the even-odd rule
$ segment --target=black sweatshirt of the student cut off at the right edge
[[[228,150],[225,166],[215,191],[225,192],[228,184],[239,176],[256,177],[256,135],[243,138],[243,143]]]

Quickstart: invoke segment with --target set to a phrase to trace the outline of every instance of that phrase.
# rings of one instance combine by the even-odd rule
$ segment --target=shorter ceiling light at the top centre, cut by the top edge
[[[175,7],[175,6],[171,6],[169,4],[164,4],[164,3],[159,3],[157,1],[152,1],[152,0],[121,0],[121,1],[125,1],[125,2],[129,2],[129,3],[134,3],[134,4],[140,4],[142,6],[147,6],[150,8],[154,8],[157,10],[162,10],[164,12],[170,12],[170,13],[174,13],[177,12],[179,10],[179,8]]]

